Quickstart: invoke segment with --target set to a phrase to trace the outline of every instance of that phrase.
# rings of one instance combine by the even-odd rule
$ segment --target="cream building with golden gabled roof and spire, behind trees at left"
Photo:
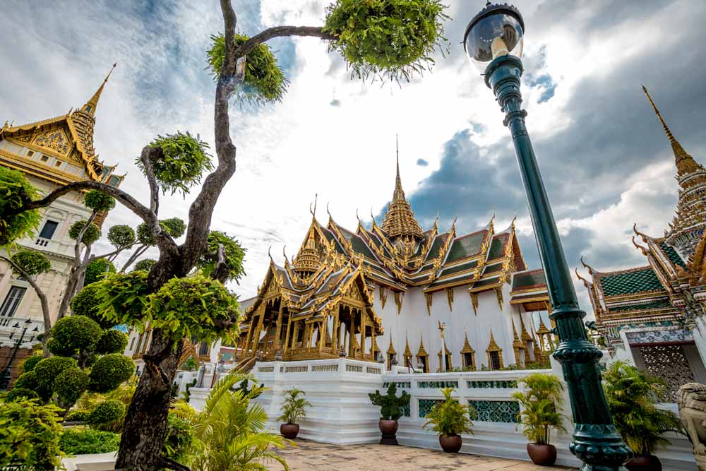
[[[19,126],[5,121],[0,129],[0,165],[23,172],[43,194],[85,179],[119,186],[123,177],[114,174],[114,167],[100,162],[93,143],[96,109],[109,76],[110,73],[78,109]],[[56,199],[42,210],[36,237],[16,241],[25,248],[42,251],[52,263],[52,269],[38,275],[36,281],[47,295],[54,318],[75,253],[75,242],[68,237],[68,229],[91,214],[83,205],[83,194],[71,191]],[[102,217],[97,222],[102,222]],[[14,275],[8,264],[0,260],[0,346],[14,345],[9,334],[13,326],[19,324],[21,328],[25,323],[37,327],[39,332],[43,330],[40,301],[30,284]],[[4,364],[1,357],[0,353],[0,363]]]

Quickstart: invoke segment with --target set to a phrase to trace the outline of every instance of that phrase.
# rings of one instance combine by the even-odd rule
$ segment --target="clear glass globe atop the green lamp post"
[[[508,4],[486,4],[468,23],[463,49],[471,62],[485,71],[500,56],[522,56],[525,21],[517,8]]]

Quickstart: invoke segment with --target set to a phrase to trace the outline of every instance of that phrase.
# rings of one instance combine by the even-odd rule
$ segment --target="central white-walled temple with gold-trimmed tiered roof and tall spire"
[[[532,318],[549,297],[510,227],[493,219],[471,234],[455,222],[422,229],[405,198],[399,159],[378,225],[350,231],[312,211],[299,253],[270,266],[246,308],[238,357],[346,356],[424,371],[501,369],[544,356],[549,330]],[[445,340],[440,327],[445,325]],[[542,340],[540,340],[540,337]],[[444,345],[444,347],[442,347]]]

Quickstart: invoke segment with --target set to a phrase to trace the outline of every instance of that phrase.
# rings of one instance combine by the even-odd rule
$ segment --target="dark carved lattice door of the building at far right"
[[[682,345],[645,345],[640,352],[647,372],[666,381],[671,402],[680,386],[695,382]]]

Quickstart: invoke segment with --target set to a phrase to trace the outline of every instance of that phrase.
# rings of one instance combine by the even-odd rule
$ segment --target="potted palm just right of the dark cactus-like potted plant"
[[[453,388],[443,388],[442,403],[432,407],[426,415],[423,428],[431,426],[439,436],[439,445],[446,453],[457,453],[461,449],[461,434],[473,434],[471,417],[475,417],[475,410],[471,406],[464,407],[455,398],[451,397]]]

